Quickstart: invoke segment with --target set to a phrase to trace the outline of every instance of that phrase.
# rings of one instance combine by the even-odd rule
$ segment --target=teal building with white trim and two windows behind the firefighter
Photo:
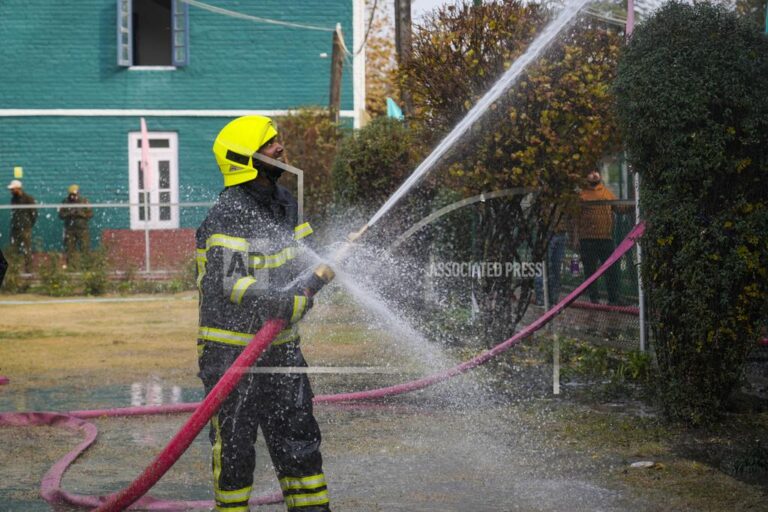
[[[55,205],[76,183],[91,203],[133,204],[95,209],[96,242],[147,225],[189,231],[205,208],[177,204],[212,201],[221,190],[211,145],[227,121],[328,105],[337,24],[355,53],[364,0],[3,0],[3,187],[21,179],[39,203]],[[341,116],[355,126],[364,69],[364,52],[347,56]],[[139,173],[142,117],[150,187]],[[147,188],[155,206],[145,212]],[[0,210],[0,246],[9,217]],[[56,210],[41,210],[38,250],[60,248],[61,230]]]

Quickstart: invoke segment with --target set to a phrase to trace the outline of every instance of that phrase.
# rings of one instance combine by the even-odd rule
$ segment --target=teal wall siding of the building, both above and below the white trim
[[[222,0],[217,7],[333,28],[352,41],[351,0]],[[116,57],[115,0],[0,2],[0,109],[286,110],[326,106],[331,32],[234,19],[190,6],[190,64],[176,70],[132,70]],[[353,106],[351,66],[345,67],[342,109]],[[211,145],[229,117],[146,117],[152,131],[178,134],[179,199],[213,201],[221,190]],[[0,179],[24,169],[24,187],[55,205],[78,183],[91,203],[128,203],[128,133],[138,117],[0,117]],[[205,208],[180,211],[196,227]],[[10,212],[0,210],[0,246],[8,244]],[[96,209],[103,229],[127,229],[129,211]],[[55,209],[41,211],[34,238],[40,250],[61,246]]]

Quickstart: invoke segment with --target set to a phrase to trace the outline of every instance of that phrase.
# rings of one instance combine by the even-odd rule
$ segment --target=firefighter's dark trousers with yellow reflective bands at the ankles
[[[242,347],[215,342],[202,346],[199,375],[206,395],[241,351]],[[306,366],[298,340],[270,347],[211,418],[217,511],[248,511],[258,429],[264,435],[288,510],[330,510],[320,429],[312,412],[307,374],[269,371],[269,367]]]

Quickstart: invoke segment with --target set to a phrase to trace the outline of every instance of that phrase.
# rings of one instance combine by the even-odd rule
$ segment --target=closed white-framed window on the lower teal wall
[[[178,135],[149,133],[149,172],[141,170],[141,133],[128,134],[131,229],[179,227]]]

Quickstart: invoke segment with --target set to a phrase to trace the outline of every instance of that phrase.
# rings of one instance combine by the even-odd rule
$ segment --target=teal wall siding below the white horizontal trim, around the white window
[[[229,118],[146,118],[150,133],[176,132],[179,142],[179,200],[209,202],[222,188],[211,152],[213,139]],[[128,133],[139,131],[134,117],[5,118],[0,123],[3,187],[14,166],[24,170],[24,189],[38,203],[57,205],[77,183],[91,203],[129,203]],[[13,141],[10,144],[8,141]],[[180,211],[180,226],[195,227],[206,208]],[[98,241],[102,229],[129,227],[127,208],[97,208],[91,220]],[[8,243],[9,210],[0,210],[0,246]],[[60,245],[61,221],[53,208],[38,216],[34,237],[40,249]]]

